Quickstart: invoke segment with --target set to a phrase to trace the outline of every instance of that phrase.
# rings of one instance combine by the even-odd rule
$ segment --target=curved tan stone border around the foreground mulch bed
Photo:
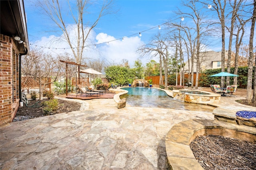
[[[174,125],[166,135],[166,161],[170,170],[204,170],[197,162],[190,142],[200,135],[222,135],[256,142],[256,128],[223,121],[188,120]]]

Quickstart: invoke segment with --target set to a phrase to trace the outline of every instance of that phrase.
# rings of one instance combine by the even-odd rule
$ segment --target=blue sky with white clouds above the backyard
[[[61,1],[67,4],[66,0]],[[75,1],[70,0],[71,4]],[[103,1],[93,1],[93,10],[97,8],[98,3]],[[184,10],[180,0],[116,0],[114,1],[114,10],[118,10],[116,14],[104,16],[96,28],[94,28],[91,39],[93,43],[108,42],[111,40],[119,39],[125,36],[136,34],[129,38],[110,42],[109,45],[103,44],[97,46],[95,50],[89,49],[84,52],[84,58],[93,59],[105,59],[111,64],[118,64],[122,59],[128,59],[130,66],[134,61],[140,57],[136,53],[136,49],[142,45],[142,43],[148,43],[148,41],[158,33],[158,28],[148,30],[153,27],[158,27],[168,20],[174,22],[180,22],[181,16],[177,16],[175,11],[178,8]],[[69,46],[63,42],[52,43],[53,38],[58,38],[61,32],[58,32],[54,24],[47,17],[42,14],[38,6],[35,6],[34,1],[24,0],[25,12],[27,17],[28,38],[31,47],[43,46],[50,48],[68,48]],[[63,6],[65,8],[65,6]],[[203,10],[208,10],[207,7]],[[68,20],[68,12],[66,12],[67,23],[72,23]],[[93,18],[93,15],[91,15]],[[87,19],[87,18],[86,18]],[[189,22],[185,20],[184,22]],[[148,30],[143,32],[144,30]],[[142,36],[139,36],[141,32]],[[51,42],[51,43],[50,43]],[[220,42],[217,42],[220,44]],[[214,44],[214,43],[213,43]],[[228,44],[227,44],[228,45]],[[220,51],[221,46],[215,45],[210,47],[214,51]],[[227,49],[227,46],[226,46]],[[47,52],[47,51],[46,51]],[[52,52],[52,50],[48,50]],[[65,52],[70,52],[66,50]],[[63,50],[56,50],[54,53],[64,53]],[[150,56],[140,58],[143,63],[150,61]],[[157,59],[156,59],[157,60]]]

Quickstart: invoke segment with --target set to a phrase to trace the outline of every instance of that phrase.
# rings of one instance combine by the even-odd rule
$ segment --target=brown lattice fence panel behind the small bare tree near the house
[[[47,83],[48,78],[42,78],[42,84]],[[36,81],[33,77],[21,77],[21,87],[22,89],[39,89],[39,82]],[[47,85],[46,88],[49,88],[50,85]]]

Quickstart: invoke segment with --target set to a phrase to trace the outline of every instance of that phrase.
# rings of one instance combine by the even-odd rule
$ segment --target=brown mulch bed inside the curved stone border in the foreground
[[[256,144],[223,136],[200,136],[190,148],[205,170],[255,170]]]

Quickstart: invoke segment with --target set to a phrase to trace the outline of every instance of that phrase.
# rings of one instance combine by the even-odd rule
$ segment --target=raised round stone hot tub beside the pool
[[[216,93],[210,93],[207,91],[198,91],[198,90],[173,90],[173,98],[190,103],[198,104],[211,104],[219,103],[220,95]]]

